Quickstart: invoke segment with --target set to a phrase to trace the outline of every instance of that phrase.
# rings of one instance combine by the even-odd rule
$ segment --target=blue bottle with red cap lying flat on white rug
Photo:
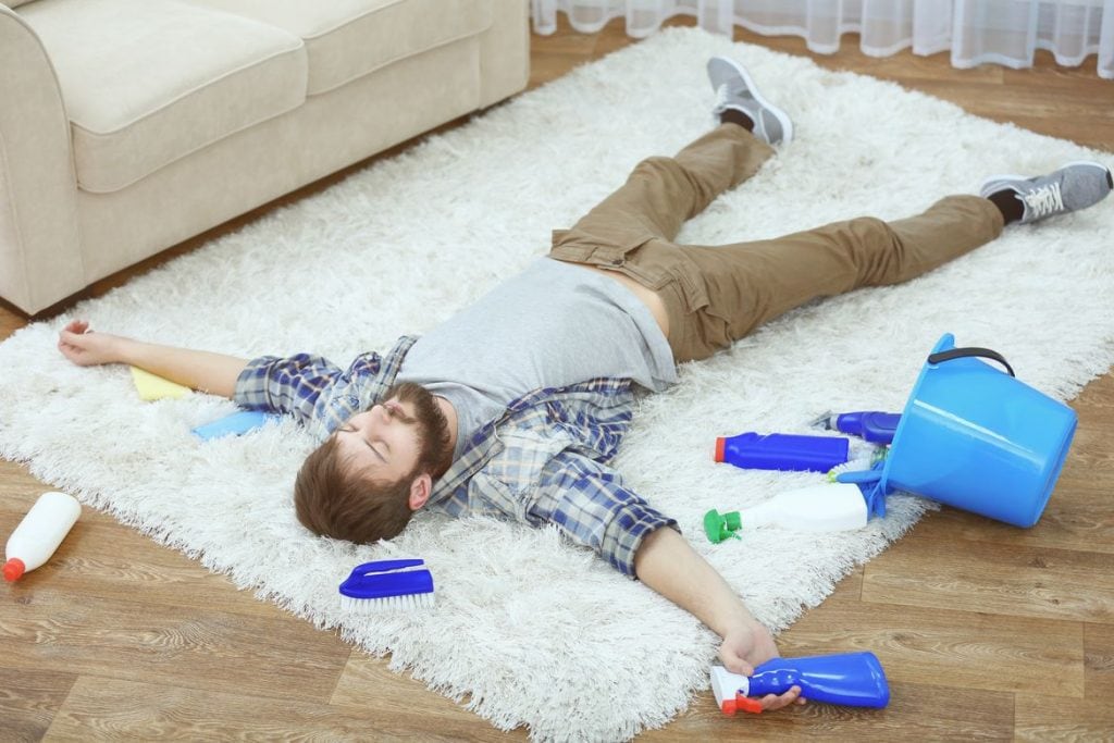
[[[850,441],[831,436],[755,433],[720,437],[715,461],[743,469],[827,472],[848,460]]]

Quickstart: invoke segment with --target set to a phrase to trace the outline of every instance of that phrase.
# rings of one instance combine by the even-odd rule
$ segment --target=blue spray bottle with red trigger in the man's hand
[[[885,707],[890,702],[886,672],[873,653],[773,658],[755,666],[751,676],[712,666],[712,691],[724,714],[761,712],[761,703],[749,697],[784,694],[792,686],[800,686],[810,702],[853,707]]]

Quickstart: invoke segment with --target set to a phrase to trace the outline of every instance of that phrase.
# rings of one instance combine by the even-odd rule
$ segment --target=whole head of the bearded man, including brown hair
[[[294,482],[297,519],[314,534],[358,544],[394,537],[449,469],[450,441],[433,395],[395,385],[305,459]]]

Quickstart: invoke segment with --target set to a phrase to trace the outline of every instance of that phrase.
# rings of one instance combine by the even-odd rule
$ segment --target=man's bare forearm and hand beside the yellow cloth
[[[208,351],[144,343],[123,335],[95,333],[75,320],[58,334],[58,350],[79,366],[130,364],[193,390],[232,399],[245,359]]]

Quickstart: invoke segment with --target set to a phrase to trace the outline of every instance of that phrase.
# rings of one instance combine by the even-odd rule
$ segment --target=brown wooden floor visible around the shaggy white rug
[[[805,53],[797,39],[739,38]],[[531,82],[631,42],[620,22],[597,36],[563,26],[534,37]],[[1114,151],[1114,82],[1096,78],[1093,57],[1083,70],[1042,53],[1034,70],[959,71],[946,55],[871,59],[856,45],[849,37],[844,51],[815,59]],[[26,323],[0,309],[0,339]],[[1037,527],[931,515],[779,638],[785,655],[874,651],[891,682],[889,708],[727,718],[707,694],[645,739],[1114,740],[1114,377],[1074,407],[1076,443]],[[0,535],[45,489],[0,462]],[[384,661],[87,512],[49,566],[0,588],[0,740],[42,737],[521,740],[526,731],[500,733]]]

